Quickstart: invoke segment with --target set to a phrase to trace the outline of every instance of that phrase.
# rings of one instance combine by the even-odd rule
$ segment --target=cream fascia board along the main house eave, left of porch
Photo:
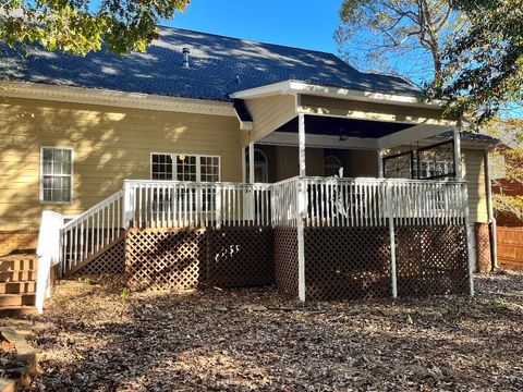
[[[39,83],[2,82],[0,83],[0,96],[182,113],[236,115],[232,102]]]

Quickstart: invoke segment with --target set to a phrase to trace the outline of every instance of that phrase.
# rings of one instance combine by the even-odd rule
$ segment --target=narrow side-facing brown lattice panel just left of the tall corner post
[[[278,290],[297,295],[296,228],[275,228],[275,280]]]

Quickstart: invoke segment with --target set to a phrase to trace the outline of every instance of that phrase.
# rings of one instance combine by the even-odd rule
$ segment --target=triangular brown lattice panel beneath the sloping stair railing
[[[125,236],[106,247],[73,275],[122,274],[125,271]]]

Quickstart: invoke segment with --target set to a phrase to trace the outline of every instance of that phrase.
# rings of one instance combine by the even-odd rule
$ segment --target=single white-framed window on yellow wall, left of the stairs
[[[72,203],[73,150],[71,148],[41,147],[40,200],[44,203]]]

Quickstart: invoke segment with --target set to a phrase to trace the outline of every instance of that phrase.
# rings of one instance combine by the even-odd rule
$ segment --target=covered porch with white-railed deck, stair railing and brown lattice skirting
[[[244,182],[125,181],[61,226],[63,275],[302,301],[474,293],[460,134],[438,105],[292,82],[233,98]]]

